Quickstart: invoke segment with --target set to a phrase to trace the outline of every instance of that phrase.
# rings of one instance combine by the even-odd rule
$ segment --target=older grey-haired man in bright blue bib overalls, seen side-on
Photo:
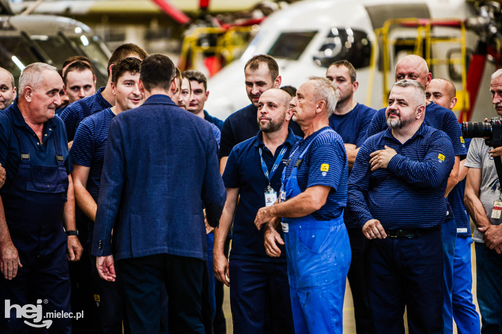
[[[282,217],[295,332],[341,333],[350,244],[343,224],[347,201],[347,154],[329,127],[338,99],[326,78],[310,77],[291,100],[293,119],[305,138],[283,170],[281,203],[261,208],[266,249],[277,256],[271,235]]]

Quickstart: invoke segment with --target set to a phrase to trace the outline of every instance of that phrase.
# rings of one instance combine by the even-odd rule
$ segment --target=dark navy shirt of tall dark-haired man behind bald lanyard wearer
[[[290,120],[289,127],[293,133],[303,137],[303,131],[293,120]],[[253,138],[260,131],[258,125],[258,108],[252,104],[235,111],[223,122],[221,128],[221,142],[218,157],[228,156],[233,146],[246,139]]]

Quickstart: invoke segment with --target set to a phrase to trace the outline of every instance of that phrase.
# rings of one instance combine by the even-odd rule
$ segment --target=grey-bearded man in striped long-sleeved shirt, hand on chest
[[[419,82],[394,84],[389,128],[362,144],[348,182],[348,208],[372,243],[368,296],[376,333],[404,332],[405,305],[410,332],[443,332],[441,225],[454,155],[449,137],[425,124],[425,105]]]

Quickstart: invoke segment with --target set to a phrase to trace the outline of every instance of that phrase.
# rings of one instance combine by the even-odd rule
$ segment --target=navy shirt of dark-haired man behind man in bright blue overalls
[[[338,132],[344,143],[360,147],[366,139],[366,130],[375,112],[376,109],[357,103],[355,108],[346,114],[332,114],[329,117],[329,126]]]

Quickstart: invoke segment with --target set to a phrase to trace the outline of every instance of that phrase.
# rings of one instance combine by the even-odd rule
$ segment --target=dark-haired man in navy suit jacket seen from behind
[[[207,249],[202,203],[216,226],[225,203],[210,124],[171,100],[175,66],[162,55],[141,64],[147,100],[110,124],[92,254],[103,279],[121,275],[133,333],[159,331],[160,291],[169,332],[204,333],[202,277]]]

